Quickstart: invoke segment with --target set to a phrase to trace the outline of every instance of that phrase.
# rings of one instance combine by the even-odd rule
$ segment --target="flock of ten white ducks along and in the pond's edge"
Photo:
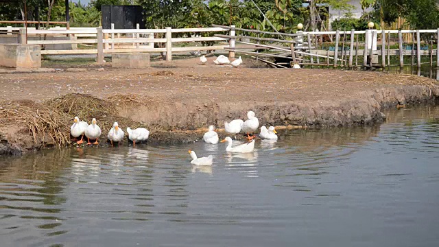
[[[233,121],[224,122],[224,129],[226,132],[230,134],[238,134],[240,132],[244,132],[247,134],[249,141],[247,143],[241,143],[239,145],[235,145],[233,147],[233,140],[230,137],[226,137],[221,142],[227,143],[226,152],[235,152],[235,153],[251,153],[254,151],[254,135],[250,136],[250,133],[253,133],[259,128],[259,120],[255,116],[253,111],[249,111],[247,113],[246,121],[241,119],[235,119]],[[75,117],[73,120],[73,125],[70,127],[70,132],[75,139],[81,137],[77,144],[82,144],[84,136],[87,138],[87,145],[97,145],[99,137],[101,137],[102,131],[99,126],[97,126],[96,119],[92,119],[91,124],[88,125],[86,121],[80,121],[79,117]],[[145,128],[136,128],[132,130],[131,128],[126,128],[126,132],[128,132],[128,139],[132,141],[133,146],[136,146],[136,142],[146,141],[148,137],[150,137],[150,131]],[[261,132],[259,133],[259,137],[262,139],[277,139],[276,130],[273,126],[266,128],[265,126],[261,127]],[[121,128],[119,128],[119,124],[115,122],[112,125],[112,128],[107,134],[108,140],[110,140],[111,145],[114,142],[118,144],[125,137],[125,133]],[[94,143],[91,143],[91,140],[95,140]],[[217,144],[219,142],[219,137],[217,132],[215,132],[215,126],[209,126],[209,131],[204,133],[203,140],[206,143]],[[212,165],[213,156],[209,155],[207,157],[198,158],[195,152],[189,150],[189,154],[191,154],[191,164],[193,165]]]

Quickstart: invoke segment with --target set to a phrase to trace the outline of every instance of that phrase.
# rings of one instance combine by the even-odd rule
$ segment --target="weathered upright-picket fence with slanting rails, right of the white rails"
[[[215,27],[226,27],[222,25],[213,25]],[[399,66],[407,65],[404,63],[404,56],[412,56],[411,65],[414,64],[416,56],[416,66],[420,67],[420,56],[429,56],[429,64],[433,65],[433,56],[436,54],[436,66],[439,66],[439,49],[434,49],[434,43],[439,43],[438,30],[351,30],[351,31],[333,31],[333,32],[296,32],[296,34],[284,34],[276,32],[265,32],[259,30],[248,30],[243,28],[228,27],[231,30],[241,32],[241,35],[224,35],[215,34],[217,37],[230,38],[237,43],[243,44],[235,47],[224,47],[228,51],[234,51],[241,54],[248,54],[257,60],[267,62],[276,67],[285,67],[285,62],[270,62],[260,59],[259,57],[272,57],[283,60],[290,60],[294,64],[303,64],[326,67],[385,67],[390,64],[390,56],[399,56]],[[234,33],[235,34],[235,33]],[[394,43],[399,45],[398,49],[390,49],[390,35],[396,39]],[[416,40],[412,40],[414,45],[410,49],[403,49],[404,43],[402,34],[413,34]],[[420,35],[431,35],[429,43],[421,43]],[[270,38],[268,38],[268,36]],[[333,50],[329,51],[323,48],[325,36],[333,40],[330,36],[335,36],[335,45]],[[436,38],[435,38],[436,37]],[[347,40],[346,40],[347,38]],[[244,39],[248,41],[243,41]],[[250,42],[250,40],[253,40]],[[361,40],[361,42],[359,42]],[[386,42],[387,40],[387,42]],[[261,44],[264,43],[264,44]],[[377,47],[381,45],[381,49]],[[422,48],[421,49],[421,45]],[[387,46],[387,47],[386,47]],[[406,46],[409,47],[409,46]],[[427,47],[427,49],[425,49]],[[319,49],[320,48],[320,49]],[[278,51],[277,53],[260,53],[260,49],[270,49]],[[257,50],[257,51],[249,51]],[[377,60],[381,56],[381,64]],[[363,59],[358,62],[359,57]],[[354,59],[355,58],[355,59]],[[407,59],[407,58],[406,58]],[[323,60],[324,62],[320,62]],[[355,65],[354,65],[355,60]],[[287,63],[289,65],[289,63]],[[359,65],[360,64],[360,65]],[[410,65],[409,64],[409,65]]]

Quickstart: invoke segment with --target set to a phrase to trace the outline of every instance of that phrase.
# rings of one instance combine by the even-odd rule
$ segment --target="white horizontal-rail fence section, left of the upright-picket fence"
[[[0,29],[1,30],[1,29]],[[10,29],[8,29],[10,30]],[[203,42],[203,41],[226,41],[226,38],[215,36],[200,37],[191,36],[200,32],[229,32],[230,29],[222,27],[200,27],[200,28],[176,28],[163,29],[126,29],[126,30],[103,30],[102,27],[75,28],[67,30],[65,27],[54,27],[49,30],[36,30],[34,28],[15,28],[19,30],[20,43],[29,45],[58,45],[58,44],[87,44],[92,49],[71,49],[71,50],[42,50],[41,54],[97,54],[97,62],[104,62],[104,54],[119,52],[166,52],[166,60],[170,61],[172,52],[176,51],[202,51],[223,49],[224,45],[213,45],[205,47],[176,47],[173,43]],[[11,31],[12,32],[12,31]],[[185,38],[172,38],[173,33],[189,33]],[[164,34],[165,38],[154,38],[154,34]],[[38,36],[40,40],[30,40],[28,36]],[[45,39],[45,36],[70,36],[67,39]],[[142,37],[144,36],[144,37]],[[75,37],[75,38],[73,38]],[[147,43],[147,45],[145,45]],[[155,43],[162,43],[155,48]],[[96,46],[96,47],[95,47]],[[95,49],[94,49],[95,48]]]

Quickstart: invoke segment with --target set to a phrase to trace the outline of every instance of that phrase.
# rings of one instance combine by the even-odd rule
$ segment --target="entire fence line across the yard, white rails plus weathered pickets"
[[[213,25],[213,27],[201,28],[163,28],[163,29],[137,29],[130,30],[102,30],[102,27],[75,28],[67,30],[65,27],[54,27],[49,30],[35,30],[28,28],[0,27],[12,34],[19,30],[21,43],[36,45],[56,44],[82,44],[88,45],[88,49],[71,50],[43,50],[41,54],[97,54],[97,61],[104,62],[104,54],[117,52],[165,52],[166,60],[172,59],[172,53],[177,51],[202,51],[224,49],[229,51],[229,56],[235,53],[248,54],[257,60],[266,62],[274,67],[285,65],[303,64],[327,67],[385,67],[390,64],[390,56],[399,57],[399,65],[407,65],[407,56],[411,56],[411,64],[421,65],[421,56],[429,56],[429,64],[433,65],[433,56],[436,54],[436,66],[439,64],[439,49],[434,49],[434,44],[439,43],[438,30],[351,30],[333,32],[296,32],[285,34],[278,32],[265,32],[260,30],[248,30],[235,26]],[[200,32],[213,32],[213,36],[191,36]],[[175,33],[187,33],[189,35],[177,38],[172,37]],[[218,34],[220,33],[220,34]],[[222,34],[221,34],[222,33]],[[226,33],[226,34],[224,34]],[[412,46],[403,43],[403,34],[412,34]],[[421,43],[420,36],[429,35],[429,43]],[[38,40],[27,40],[27,36],[38,36]],[[46,36],[75,36],[75,38],[51,39]],[[334,38],[335,36],[335,38]],[[335,40],[333,50],[324,48],[325,39]],[[416,38],[416,39],[415,39]],[[360,40],[360,41],[359,41]],[[390,49],[390,43],[398,45],[398,49]],[[189,42],[224,42],[228,45],[213,45],[206,47],[179,47],[176,43]],[[149,45],[145,45],[145,43]],[[154,45],[158,43],[159,45]],[[174,43],[174,45],[173,45]],[[235,43],[239,45],[235,45]],[[416,49],[415,49],[416,45]],[[381,46],[381,49],[377,47]],[[427,47],[427,49],[425,49]],[[422,48],[422,49],[421,49]],[[277,51],[276,53],[261,53],[261,50]],[[404,58],[406,56],[406,58]],[[288,60],[289,62],[272,62],[263,57]],[[381,63],[377,62],[381,57]],[[362,59],[363,61],[358,61]],[[355,61],[355,63],[354,63]]]

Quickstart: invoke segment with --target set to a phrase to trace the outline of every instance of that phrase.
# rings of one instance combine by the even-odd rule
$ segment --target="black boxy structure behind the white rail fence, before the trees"
[[[111,29],[111,23],[115,29],[135,29],[137,23],[145,28],[140,5],[102,5],[101,10],[103,29]]]

